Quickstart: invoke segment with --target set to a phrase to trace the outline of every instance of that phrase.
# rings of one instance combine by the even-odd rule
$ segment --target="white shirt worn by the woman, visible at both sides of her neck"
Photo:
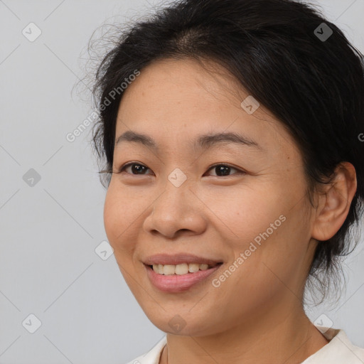
[[[364,348],[354,346],[343,330],[316,327],[329,342],[301,364],[364,364]],[[151,350],[127,364],[159,364],[166,343],[167,337],[164,336]]]

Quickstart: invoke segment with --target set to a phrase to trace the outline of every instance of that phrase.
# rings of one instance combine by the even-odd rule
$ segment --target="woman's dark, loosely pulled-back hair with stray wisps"
[[[364,142],[358,137],[364,132],[363,55],[311,4],[176,1],[119,33],[97,69],[93,95],[100,119],[93,141],[107,170],[112,168],[120,85],[135,70],[165,58],[212,60],[267,107],[301,150],[311,204],[311,193],[331,181],[338,164],[353,164],[358,188],[348,217],[335,236],[319,242],[309,272],[325,296],[341,268],[338,258],[348,255],[353,242],[350,228],[363,212]],[[118,91],[110,97],[112,90]]]

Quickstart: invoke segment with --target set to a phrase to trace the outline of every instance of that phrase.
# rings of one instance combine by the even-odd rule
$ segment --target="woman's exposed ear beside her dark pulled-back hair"
[[[328,240],[338,232],[348,216],[356,191],[356,173],[353,164],[342,162],[336,167],[335,178],[324,186],[319,196],[319,207],[312,227],[312,237]]]

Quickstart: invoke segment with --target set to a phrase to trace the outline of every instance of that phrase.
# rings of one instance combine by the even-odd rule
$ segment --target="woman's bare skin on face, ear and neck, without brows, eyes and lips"
[[[348,215],[355,169],[343,163],[311,206],[301,153],[282,123],[262,105],[247,114],[240,103],[249,94],[223,68],[205,66],[159,60],[124,91],[116,137],[149,134],[160,152],[136,142],[115,146],[114,171],[131,161],[147,169],[112,175],[107,237],[141,308],[167,333],[160,363],[167,355],[169,364],[301,363],[328,343],[301,302],[317,240],[335,235]],[[244,134],[262,150],[231,143],[191,149],[192,139],[209,132]],[[223,176],[213,164],[237,169]],[[175,168],[187,177],[178,188],[168,181]],[[280,215],[284,223],[213,287]],[[149,282],[142,263],[161,252],[189,252],[223,267],[188,291],[166,293]],[[178,333],[168,325],[177,314],[186,323]]]

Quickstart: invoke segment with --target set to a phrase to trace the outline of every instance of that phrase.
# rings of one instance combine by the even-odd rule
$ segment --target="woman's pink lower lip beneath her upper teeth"
[[[198,272],[194,273],[186,273],[186,274],[158,274],[154,272],[154,270],[149,267],[149,265],[144,264],[146,268],[146,273],[154,285],[154,287],[160,289],[164,292],[181,292],[186,291],[187,289],[191,288],[194,284],[202,282],[211,274],[216,272],[223,264],[218,264],[213,268],[199,270]]]

